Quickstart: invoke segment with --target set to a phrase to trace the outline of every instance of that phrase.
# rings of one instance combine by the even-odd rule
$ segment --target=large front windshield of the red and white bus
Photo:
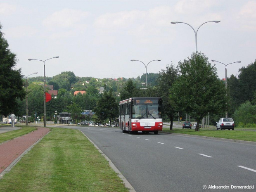
[[[161,104],[133,104],[133,119],[159,119],[162,118]]]

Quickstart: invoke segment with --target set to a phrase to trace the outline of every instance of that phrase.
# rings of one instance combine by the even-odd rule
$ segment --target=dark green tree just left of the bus
[[[102,120],[109,119],[111,125],[111,120],[115,119],[119,114],[118,106],[112,90],[105,91],[96,104],[95,114]]]

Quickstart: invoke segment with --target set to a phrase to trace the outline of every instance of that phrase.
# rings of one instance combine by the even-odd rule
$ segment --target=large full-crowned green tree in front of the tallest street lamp
[[[218,114],[227,109],[225,85],[202,53],[195,52],[191,58],[179,62],[179,69],[180,75],[170,89],[171,102],[195,116],[198,131],[208,112]]]

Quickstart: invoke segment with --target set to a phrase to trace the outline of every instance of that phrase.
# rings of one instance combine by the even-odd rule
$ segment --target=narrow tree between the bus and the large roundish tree
[[[157,80],[157,93],[158,97],[162,98],[163,114],[166,114],[171,121],[170,130],[173,129],[173,118],[178,112],[175,107],[175,103],[169,99],[169,89],[173,85],[173,82],[178,78],[178,69],[175,69],[173,64],[167,65],[166,70],[162,70]]]

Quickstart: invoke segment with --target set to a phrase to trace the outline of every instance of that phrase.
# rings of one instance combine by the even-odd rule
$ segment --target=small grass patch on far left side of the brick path
[[[18,129],[18,130],[12,130],[12,131],[8,131],[6,133],[1,133],[0,134],[0,143],[8,141],[8,140],[12,140],[16,137],[20,137],[22,135],[30,133],[33,130],[36,130],[36,128],[35,127],[22,127],[21,129]]]

